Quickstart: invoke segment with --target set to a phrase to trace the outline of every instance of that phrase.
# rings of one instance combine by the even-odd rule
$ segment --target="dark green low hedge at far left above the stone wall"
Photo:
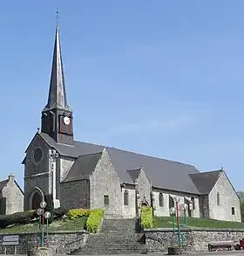
[[[10,215],[0,215],[0,228],[5,228],[8,225],[24,225],[37,218],[36,211],[16,212]]]

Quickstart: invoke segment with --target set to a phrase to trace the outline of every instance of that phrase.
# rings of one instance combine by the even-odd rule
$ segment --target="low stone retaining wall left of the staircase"
[[[3,236],[19,235],[18,246],[3,246]],[[48,246],[53,253],[66,254],[74,248],[84,246],[88,239],[88,232],[50,232]],[[39,246],[40,234],[28,232],[21,234],[0,234],[0,254],[26,254],[28,250]],[[46,246],[46,243],[45,245]]]

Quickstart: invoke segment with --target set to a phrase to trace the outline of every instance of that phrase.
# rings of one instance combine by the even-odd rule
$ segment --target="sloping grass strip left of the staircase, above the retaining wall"
[[[87,217],[77,218],[75,220],[62,219],[53,221],[49,225],[49,232],[54,231],[81,231],[84,230]],[[38,223],[27,225],[15,225],[9,228],[0,229],[0,233],[15,233],[15,232],[38,232]]]

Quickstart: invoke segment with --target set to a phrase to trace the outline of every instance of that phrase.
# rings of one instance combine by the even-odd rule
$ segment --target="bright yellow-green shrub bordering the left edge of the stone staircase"
[[[98,232],[101,220],[104,216],[103,209],[93,209],[91,210],[91,214],[87,218],[86,221],[86,229],[89,232],[96,233]]]

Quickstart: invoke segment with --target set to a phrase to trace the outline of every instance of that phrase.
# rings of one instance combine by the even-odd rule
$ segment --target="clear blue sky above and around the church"
[[[244,190],[241,0],[2,1],[0,178],[13,172],[23,185],[24,150],[47,100],[57,7],[77,140],[223,167]]]

